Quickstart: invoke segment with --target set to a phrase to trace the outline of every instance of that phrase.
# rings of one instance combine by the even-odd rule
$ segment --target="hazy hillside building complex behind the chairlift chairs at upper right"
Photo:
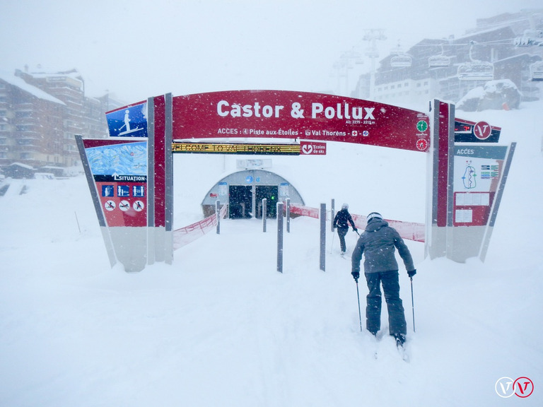
[[[358,81],[354,97],[412,105],[433,98],[457,102],[488,81],[509,79],[523,100],[543,97],[543,9],[477,20],[459,38],[424,39],[380,60]]]

